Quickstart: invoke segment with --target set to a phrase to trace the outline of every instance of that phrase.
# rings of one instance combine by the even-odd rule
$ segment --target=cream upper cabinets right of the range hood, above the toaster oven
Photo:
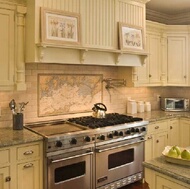
[[[147,21],[146,29],[145,64],[119,68],[120,75],[129,86],[190,86],[189,26]]]

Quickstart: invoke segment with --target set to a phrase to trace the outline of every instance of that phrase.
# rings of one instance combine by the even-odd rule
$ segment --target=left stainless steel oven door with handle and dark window
[[[48,189],[92,188],[92,151],[48,157]]]

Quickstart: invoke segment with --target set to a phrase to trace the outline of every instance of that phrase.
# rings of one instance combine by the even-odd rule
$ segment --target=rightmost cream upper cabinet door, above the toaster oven
[[[189,33],[188,27],[171,26],[167,31],[167,85],[189,85]]]

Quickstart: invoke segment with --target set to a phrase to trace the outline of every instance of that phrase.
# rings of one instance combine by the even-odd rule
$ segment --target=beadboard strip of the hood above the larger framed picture
[[[42,6],[50,9],[80,13],[80,0],[43,0]]]

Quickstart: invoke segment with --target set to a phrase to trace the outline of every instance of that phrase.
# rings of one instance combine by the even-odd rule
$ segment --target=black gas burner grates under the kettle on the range
[[[118,113],[106,114],[105,118],[95,118],[93,116],[84,116],[84,117],[79,117],[79,118],[68,119],[68,121],[71,123],[76,123],[76,124],[86,126],[92,129],[131,123],[131,122],[142,121],[142,120],[143,119],[139,117],[133,117],[133,116],[118,114]]]

